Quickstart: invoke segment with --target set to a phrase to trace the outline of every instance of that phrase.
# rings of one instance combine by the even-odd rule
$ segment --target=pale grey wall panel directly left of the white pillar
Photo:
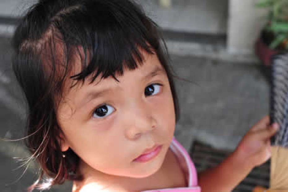
[[[228,0],[137,0],[164,29],[188,33],[227,31]]]

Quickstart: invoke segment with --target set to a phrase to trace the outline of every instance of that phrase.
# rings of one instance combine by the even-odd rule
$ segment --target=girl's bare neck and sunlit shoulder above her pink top
[[[175,167],[176,165],[178,167],[178,170],[176,171],[178,174],[175,174],[175,169],[172,169],[172,167]],[[181,169],[179,169],[179,163],[177,162],[176,157],[170,149],[168,150],[160,169],[153,175],[145,178],[131,178],[108,175],[97,170],[91,172],[91,167],[89,167],[84,162],[80,163],[79,168],[80,170],[82,170],[82,175],[84,179],[82,181],[74,181],[72,190],[73,192],[136,192],[143,190],[187,186],[184,174],[183,172],[181,172]]]

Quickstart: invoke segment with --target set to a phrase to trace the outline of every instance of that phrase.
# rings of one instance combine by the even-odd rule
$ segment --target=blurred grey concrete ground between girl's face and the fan
[[[268,114],[269,87],[260,65],[173,56],[181,119],[176,135],[185,147],[191,136],[221,149],[234,149],[245,132]]]

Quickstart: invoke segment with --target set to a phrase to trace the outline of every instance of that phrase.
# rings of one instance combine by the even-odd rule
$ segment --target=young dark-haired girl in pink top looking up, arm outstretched
[[[41,166],[30,191],[73,180],[73,192],[225,192],[270,157],[277,125],[265,117],[197,179],[173,138],[179,109],[165,44],[130,0],[40,0],[13,47],[26,145]]]

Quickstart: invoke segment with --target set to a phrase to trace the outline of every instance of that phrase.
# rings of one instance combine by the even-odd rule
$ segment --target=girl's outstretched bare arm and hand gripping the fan
[[[269,125],[269,117],[262,118],[243,137],[237,149],[217,167],[199,174],[202,192],[230,192],[255,167],[271,157],[270,137],[278,125]]]

